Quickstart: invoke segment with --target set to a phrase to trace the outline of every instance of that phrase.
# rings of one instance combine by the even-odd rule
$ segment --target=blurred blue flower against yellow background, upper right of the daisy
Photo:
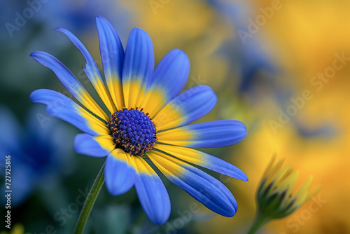
[[[253,34],[252,37],[242,40],[239,31],[247,31],[248,18],[251,15],[248,2],[242,1],[219,1],[207,0],[218,13],[227,18],[235,27],[237,35],[233,41],[227,41],[223,44],[222,50],[228,55],[232,64],[238,64],[239,69],[239,92],[251,90],[255,85],[261,82],[274,85],[276,82],[274,74],[276,73],[276,64],[269,55],[262,49],[259,36]],[[265,71],[266,74],[262,73]],[[261,81],[262,80],[262,81]]]

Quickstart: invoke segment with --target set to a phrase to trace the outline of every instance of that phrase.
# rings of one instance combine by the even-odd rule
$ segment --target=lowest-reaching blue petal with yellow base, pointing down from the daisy
[[[137,168],[135,188],[141,206],[147,216],[157,225],[162,225],[169,219],[170,199],[162,180],[144,159],[134,156]]]

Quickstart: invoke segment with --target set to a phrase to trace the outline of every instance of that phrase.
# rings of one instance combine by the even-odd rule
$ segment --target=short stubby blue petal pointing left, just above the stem
[[[77,153],[92,157],[105,157],[115,149],[114,139],[111,136],[92,136],[78,134],[74,138],[74,148]]]

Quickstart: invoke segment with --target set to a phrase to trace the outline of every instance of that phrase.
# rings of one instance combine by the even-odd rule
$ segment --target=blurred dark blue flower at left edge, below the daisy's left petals
[[[69,172],[67,163],[73,147],[62,144],[73,139],[64,123],[34,108],[22,126],[10,109],[0,106],[0,155],[11,158],[11,205],[24,202],[36,188],[55,186],[62,174]],[[1,165],[3,167],[4,165]]]

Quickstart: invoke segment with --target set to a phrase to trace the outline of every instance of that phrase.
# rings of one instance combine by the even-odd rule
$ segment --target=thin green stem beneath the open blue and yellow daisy
[[[97,174],[97,177],[94,180],[94,184],[92,184],[90,192],[87,195],[87,198],[83,205],[83,209],[81,209],[78,221],[76,222],[76,228],[74,229],[74,234],[83,233],[87,218],[89,218],[91,209],[94,206],[94,201],[96,200],[97,195],[99,195],[99,191],[101,190],[103,184],[104,184],[104,165],[102,166],[101,170],[99,170],[99,174]]]

